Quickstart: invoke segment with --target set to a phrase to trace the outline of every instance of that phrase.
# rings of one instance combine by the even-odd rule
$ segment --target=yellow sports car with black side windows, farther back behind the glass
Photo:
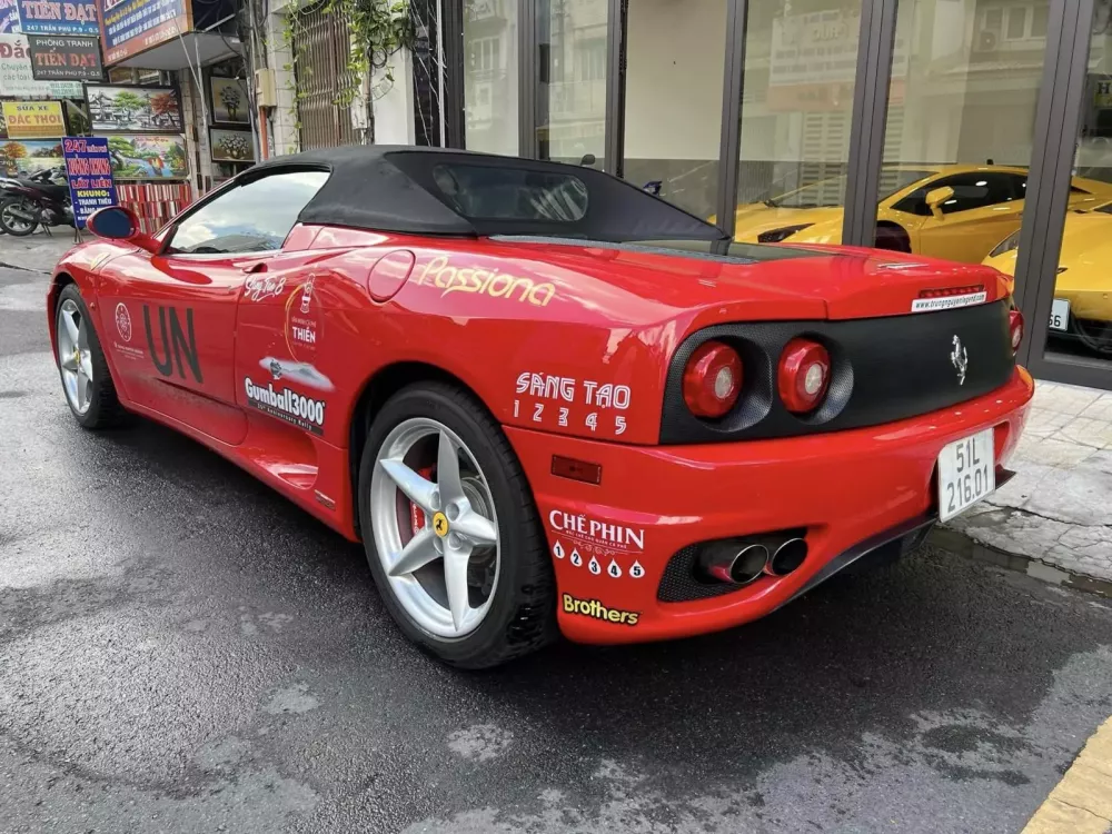
[[[845,177],[737,207],[734,237],[754,244],[840,244]],[[876,246],[979,264],[1020,228],[1026,168],[891,166],[881,171]],[[1070,208],[1112,199],[1112,185],[1074,177]]]

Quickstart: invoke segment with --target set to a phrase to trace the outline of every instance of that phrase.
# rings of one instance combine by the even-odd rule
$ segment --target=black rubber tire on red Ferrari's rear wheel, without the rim
[[[428,417],[467,445],[487,479],[498,516],[500,564],[490,608],[459,638],[429,634],[413,620],[390,588],[370,528],[370,483],[386,436],[403,420]],[[467,393],[443,383],[419,383],[394,395],[375,416],[359,464],[359,525],[379,595],[403,633],[426,652],[459,668],[498,666],[535,652],[557,635],[552,558],[520,464],[489,413]]]

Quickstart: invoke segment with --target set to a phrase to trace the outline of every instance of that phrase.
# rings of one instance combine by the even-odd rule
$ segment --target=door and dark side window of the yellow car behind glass
[[[925,187],[922,199],[939,188],[953,197],[941,216],[927,208],[917,230],[916,252],[980,264],[1001,240],[1017,228],[1023,216],[1026,178],[1019,173],[969,171],[942,177]]]

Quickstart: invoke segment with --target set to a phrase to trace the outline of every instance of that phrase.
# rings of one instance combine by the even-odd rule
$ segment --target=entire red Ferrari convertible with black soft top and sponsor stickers
[[[361,540],[492,666],[768,614],[1010,477],[1033,393],[986,267],[738,245],[599,171],[341,148],[59,262],[66,399],[179,429]]]

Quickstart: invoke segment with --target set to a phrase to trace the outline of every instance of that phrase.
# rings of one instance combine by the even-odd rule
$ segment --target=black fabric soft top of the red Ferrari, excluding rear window
[[[586,187],[586,211],[558,221],[468,216],[453,205],[434,177],[439,166],[453,165],[469,170],[478,166],[572,176]],[[560,162],[444,148],[353,145],[279,157],[245,171],[240,179],[281,169],[327,170],[331,175],[298,216],[304,224],[457,237],[546,235],[605,241],[723,238],[716,227],[616,177]]]

